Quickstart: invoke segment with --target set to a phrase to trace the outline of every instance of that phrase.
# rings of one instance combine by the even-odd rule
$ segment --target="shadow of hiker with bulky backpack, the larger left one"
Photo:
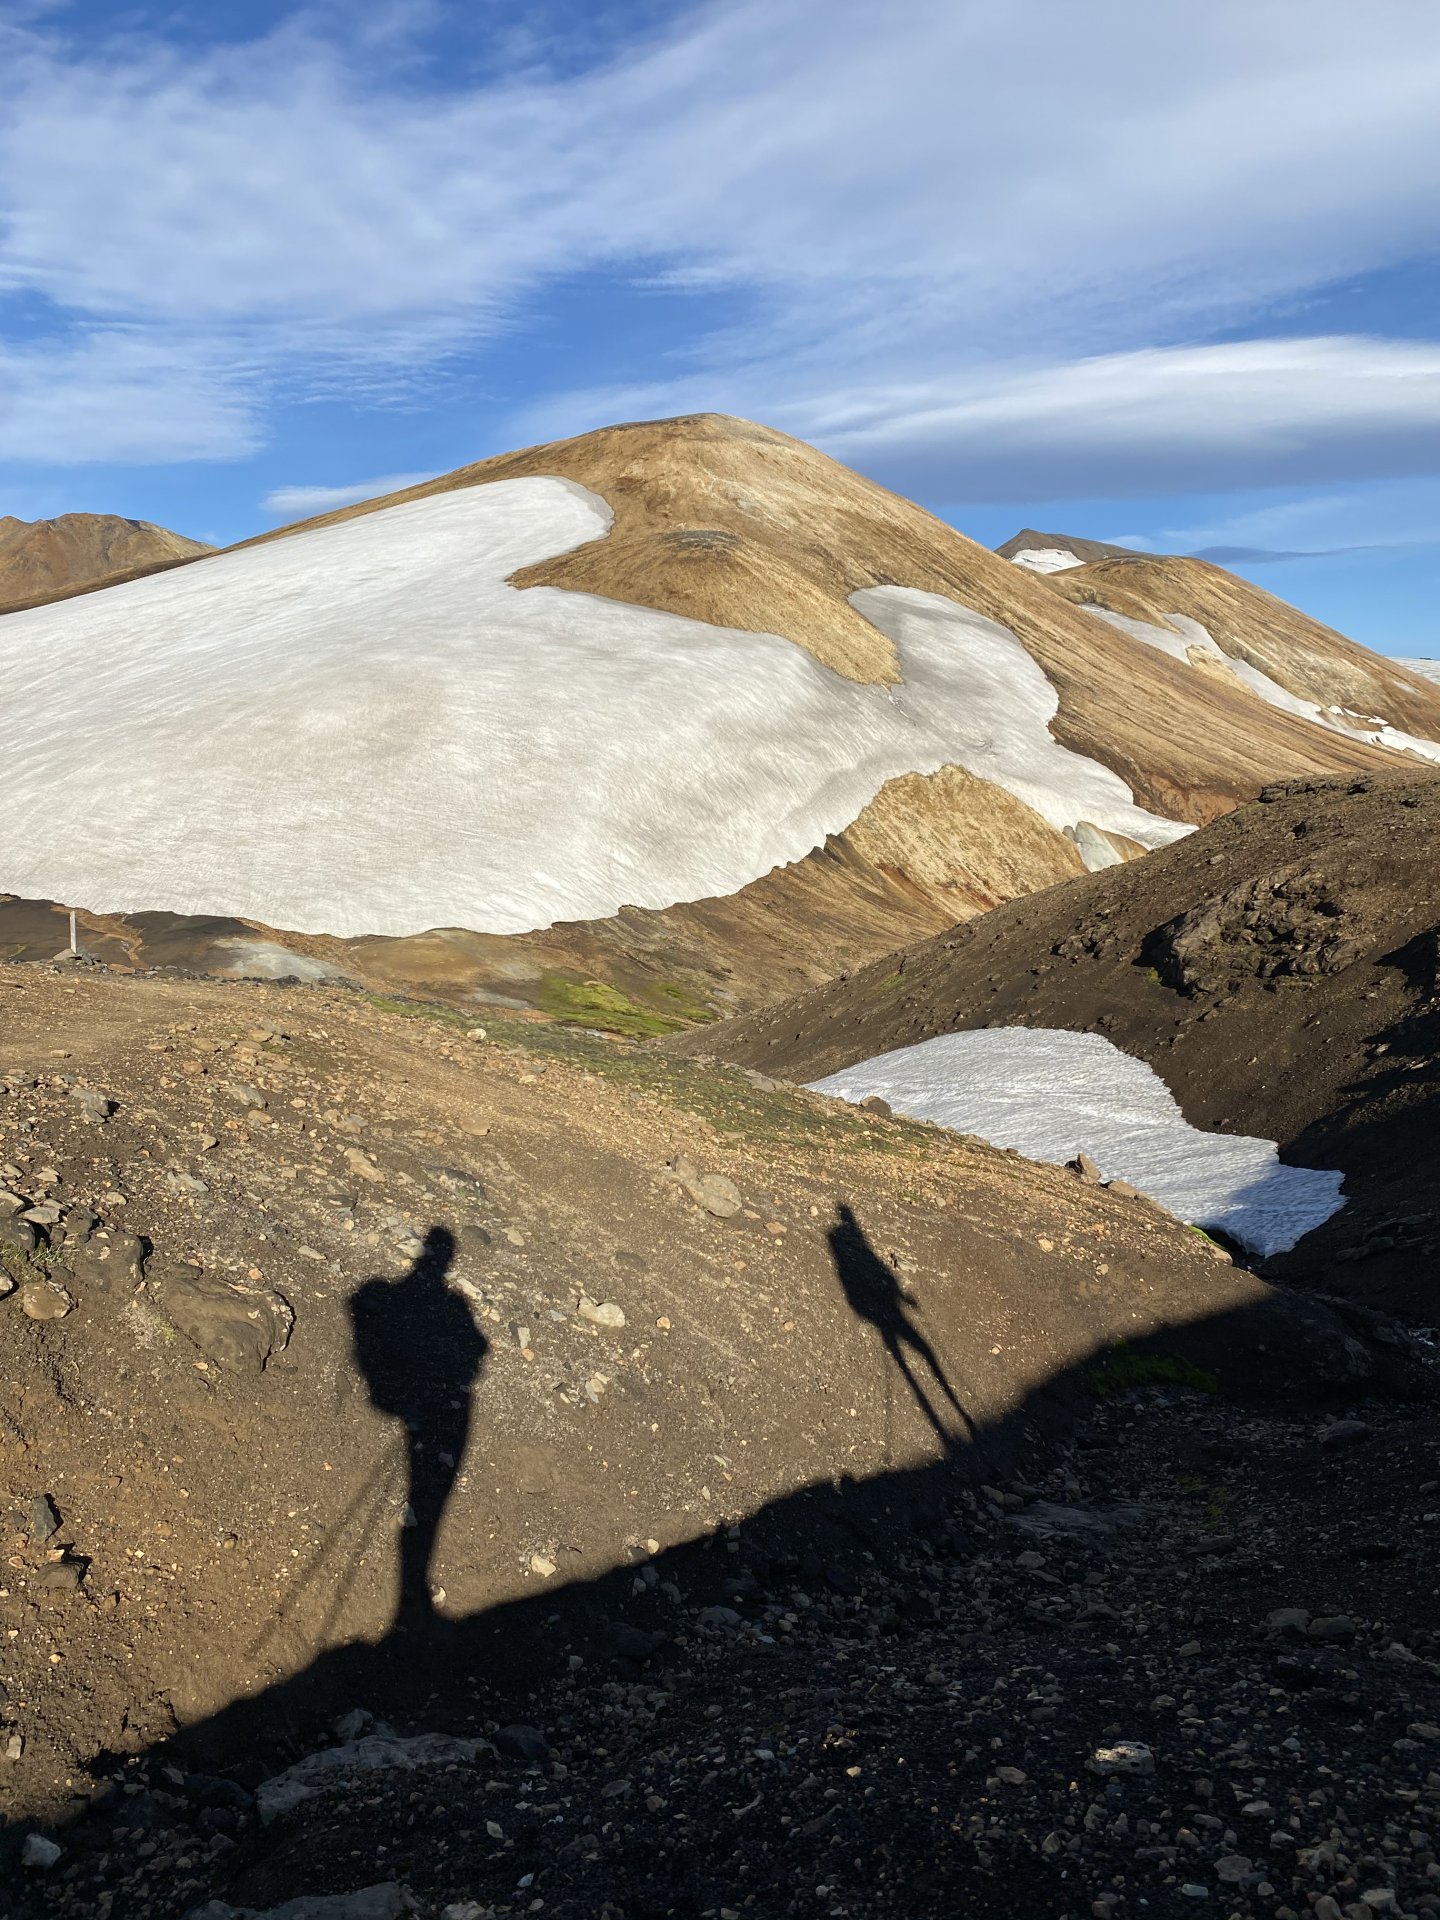
[[[397,1626],[434,1620],[430,1561],[470,1436],[470,1402],[490,1342],[445,1284],[455,1236],[432,1227],[409,1273],[351,1294],[355,1361],[371,1404],[405,1427],[409,1511],[399,1536]]]

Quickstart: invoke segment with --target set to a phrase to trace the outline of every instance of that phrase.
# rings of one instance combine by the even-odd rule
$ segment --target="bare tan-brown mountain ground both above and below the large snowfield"
[[[612,509],[614,524],[599,540],[522,568],[513,576],[516,588],[597,593],[716,626],[774,632],[833,672],[874,684],[895,680],[895,645],[851,595],[883,584],[943,593],[1002,622],[1039,662],[1058,695],[1056,739],[1110,766],[1140,804],[1171,818],[1202,824],[1277,778],[1396,764],[1396,755],[1369,745],[1359,728],[1352,737],[1281,712],[1223,670],[1196,670],[1096,618],[1064,586],[1091,576],[1092,566],[1029,574],[814,447],[724,415],[636,422],[528,447],[261,538],[284,540],[397,501],[534,474],[589,488]],[[1096,564],[1127,568],[1131,561]],[[1238,595],[1233,620],[1213,614],[1215,639],[1236,651],[1250,645],[1281,685],[1440,737],[1440,689],[1417,691],[1421,684],[1392,662],[1217,568],[1173,564],[1196,566],[1206,582],[1213,576],[1217,593]],[[1140,605],[1144,618],[1164,618],[1152,599],[1125,599],[1119,611]],[[1246,620],[1256,622],[1250,639]],[[1137,851],[1117,837],[1112,845],[1121,856]],[[1071,877],[1081,866],[1073,839],[1023,801],[943,768],[889,781],[824,847],[724,899],[660,912],[626,908],[605,922],[518,937],[438,927],[409,939],[342,943],[242,924],[230,924],[223,937],[267,943],[269,972],[282,966],[271,952],[282,943],[367,981],[595,1023],[664,1025],[793,993],[899,941]],[[35,925],[33,908],[23,918]],[[52,943],[52,931],[54,916],[44,916],[31,948],[23,931],[8,927],[25,952]],[[161,948],[204,968],[259,964],[232,945],[217,952],[215,931],[215,924],[192,924],[186,933],[171,916],[159,925],[148,916],[109,916],[88,924],[86,943],[125,964],[148,964]],[[618,993],[634,1016],[599,1004],[591,983]]]

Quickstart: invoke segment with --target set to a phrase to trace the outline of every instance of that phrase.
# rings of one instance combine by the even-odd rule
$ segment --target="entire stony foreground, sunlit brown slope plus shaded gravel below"
[[[6,1912],[1423,1910],[1425,1340],[614,1037],[0,1031]]]

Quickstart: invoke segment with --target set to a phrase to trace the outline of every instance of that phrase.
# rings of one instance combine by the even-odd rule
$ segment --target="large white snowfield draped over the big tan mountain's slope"
[[[326,933],[518,933],[732,893],[956,762],[1054,826],[1188,831],[1046,730],[1002,626],[856,605],[866,687],[774,634],[507,576],[609,532],[566,480],[409,501],[0,618],[0,889]]]

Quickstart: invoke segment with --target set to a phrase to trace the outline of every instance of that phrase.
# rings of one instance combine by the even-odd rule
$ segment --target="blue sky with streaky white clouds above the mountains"
[[[614,419],[1440,653],[1434,0],[0,0],[0,513]]]

